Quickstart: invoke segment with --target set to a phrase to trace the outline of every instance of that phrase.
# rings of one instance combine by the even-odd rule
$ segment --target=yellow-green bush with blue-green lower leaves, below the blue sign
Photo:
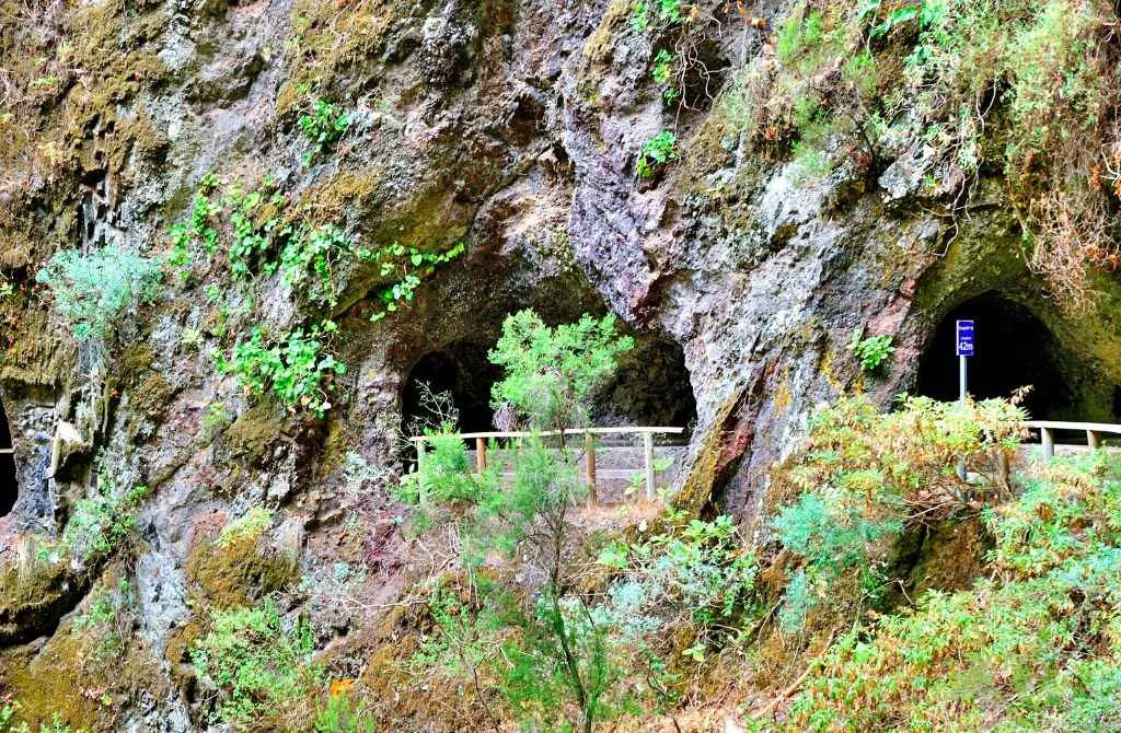
[[[1003,466],[1022,418],[1003,400],[927,398],[907,398],[887,415],[865,399],[816,412],[806,445],[773,475],[772,492],[791,501],[771,528],[798,558],[779,614],[784,629],[798,630],[814,609],[847,619],[880,601],[896,579],[895,540],[908,522],[934,522],[975,495],[1007,495]],[[962,483],[958,458],[978,483]]]

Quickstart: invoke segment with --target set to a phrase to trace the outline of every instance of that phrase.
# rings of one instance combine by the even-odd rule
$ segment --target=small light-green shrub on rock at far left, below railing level
[[[137,510],[149,493],[142,485],[120,489],[108,473],[99,473],[90,495],[74,504],[63,529],[63,547],[87,565],[127,549],[135,540]]]

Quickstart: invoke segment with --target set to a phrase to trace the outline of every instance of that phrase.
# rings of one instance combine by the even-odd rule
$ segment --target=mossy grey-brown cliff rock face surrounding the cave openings
[[[2,304],[0,398],[20,486],[0,519],[0,642],[10,644],[0,690],[44,720],[57,705],[75,725],[203,730],[211,683],[196,678],[188,652],[203,605],[252,602],[303,576],[311,590],[299,609],[322,621],[317,643],[365,633],[369,616],[316,604],[358,565],[362,582],[346,587],[363,607],[402,584],[399,508],[370,476],[398,466],[410,370],[453,344],[485,350],[519,308],[553,323],[620,316],[658,356],[631,366],[619,399],[665,405],[629,415],[605,405],[604,415],[695,410],[678,500],[745,525],[769,466],[816,403],[850,390],[889,403],[919,379],[943,317],[976,296],[1029,309],[1047,332],[1025,337],[1046,344],[1065,381],[1056,416],[1114,419],[1119,289],[1102,276],[1103,305],[1091,315],[1056,305],[1025,263],[998,171],[981,171],[969,215],[947,216],[921,198],[919,154],[807,176],[789,155],[752,146],[745,80],[776,63],[771,29],[791,8],[761,3],[752,12],[766,22],[751,24],[731,6],[697,7],[697,65],[684,74],[682,104],[665,102],[650,74],[673,34],[637,31],[618,0],[0,10],[0,48],[41,57],[10,83],[0,76],[11,109],[0,114],[0,271],[16,286]],[[318,99],[350,122],[325,149],[297,122]],[[678,157],[642,177],[642,148],[663,130],[674,131]],[[200,263],[188,279],[168,277],[113,344],[75,347],[37,269],[73,248],[166,256],[169,228],[189,217],[207,174],[223,191],[271,177],[289,211],[362,247],[462,241],[465,252],[376,323],[385,282],[374,268],[341,265],[337,303],[323,308],[279,275],[234,286]],[[221,300],[206,286],[256,299]],[[348,371],[323,419],[251,399],[214,369],[211,352],[228,353],[252,325],[282,331],[326,315]],[[858,330],[893,337],[879,372],[849,351]],[[928,362],[953,370],[949,355]],[[643,364],[661,365],[647,379]],[[636,392],[647,383],[652,392]],[[100,495],[99,476],[148,489],[135,507],[137,540],[124,553],[53,559],[67,520]],[[223,528],[253,507],[272,521],[244,550],[256,569],[225,587],[192,558],[217,551]],[[75,619],[120,575],[135,596],[126,674],[91,662],[75,679]],[[53,658],[70,661],[48,668]]]

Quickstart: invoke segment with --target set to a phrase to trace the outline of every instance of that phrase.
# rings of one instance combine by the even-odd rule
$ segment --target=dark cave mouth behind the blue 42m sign
[[[1022,406],[1032,419],[1069,416],[1073,392],[1060,368],[1058,342],[1026,306],[995,291],[949,310],[927,342],[915,392],[938,400],[958,397],[956,322],[972,319],[975,355],[969,358],[969,393],[975,399],[1009,398],[1030,384]]]

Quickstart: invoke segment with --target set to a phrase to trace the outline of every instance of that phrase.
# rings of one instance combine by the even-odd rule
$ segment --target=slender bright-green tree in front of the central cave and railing
[[[470,667],[485,704],[479,674],[484,667],[515,714],[545,726],[567,717],[574,729],[591,731],[622,702],[612,692],[623,672],[612,664],[611,640],[573,590],[568,559],[575,532],[567,513],[584,491],[574,456],[563,436],[556,449],[536,433],[584,421],[615,358],[631,346],[611,316],[584,316],[556,328],[532,310],[510,316],[490,353],[506,368],[492,397],[521,412],[535,435],[508,466],[494,464],[481,474],[470,472],[460,438],[437,436],[413,483],[413,498],[423,492],[433,508],[420,521],[451,527],[457,537],[470,585],[464,603],[473,606],[450,613],[446,591],[437,592],[434,615],[443,635],[455,641],[429,644],[425,659],[460,671]],[[504,468],[512,481],[503,479]],[[479,568],[495,551],[519,559],[529,587],[478,582]],[[495,653],[464,651],[480,647]],[[493,714],[491,720],[497,721]]]

